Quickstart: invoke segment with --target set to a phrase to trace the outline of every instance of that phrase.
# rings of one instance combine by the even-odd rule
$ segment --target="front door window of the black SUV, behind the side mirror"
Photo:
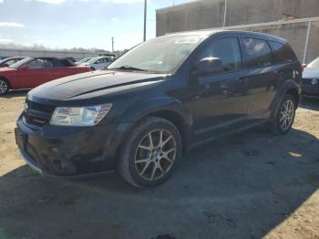
[[[212,42],[209,47],[201,52],[198,59],[201,60],[205,57],[221,58],[225,71],[242,67],[241,49],[236,37],[223,38]]]

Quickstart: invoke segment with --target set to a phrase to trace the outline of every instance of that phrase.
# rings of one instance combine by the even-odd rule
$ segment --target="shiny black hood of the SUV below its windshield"
[[[119,90],[137,88],[163,80],[165,74],[97,70],[59,78],[28,93],[28,99],[72,100],[105,96]]]

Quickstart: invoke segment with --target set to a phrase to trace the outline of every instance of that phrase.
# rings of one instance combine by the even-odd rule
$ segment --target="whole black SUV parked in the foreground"
[[[104,70],[31,90],[16,143],[36,171],[115,169],[129,183],[164,182],[183,151],[267,123],[287,133],[302,66],[282,38],[195,31],[151,39]]]

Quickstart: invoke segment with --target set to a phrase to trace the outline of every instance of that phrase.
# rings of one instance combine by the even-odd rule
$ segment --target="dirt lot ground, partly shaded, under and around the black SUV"
[[[26,92],[0,98],[0,238],[319,238],[319,100],[291,133],[250,130],[191,151],[168,182],[137,190],[31,171],[15,146]]]

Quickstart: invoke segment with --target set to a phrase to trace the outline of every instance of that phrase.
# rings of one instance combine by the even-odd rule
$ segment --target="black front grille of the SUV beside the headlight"
[[[24,117],[27,124],[36,125],[38,127],[45,126],[55,110],[55,106],[39,104],[30,100],[26,100],[27,107],[24,111]]]

